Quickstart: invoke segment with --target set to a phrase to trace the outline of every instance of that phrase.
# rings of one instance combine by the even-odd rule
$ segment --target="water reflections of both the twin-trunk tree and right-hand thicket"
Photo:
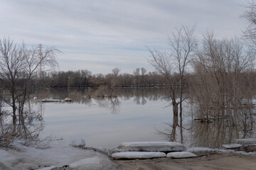
[[[249,100],[252,101],[252,100]],[[202,103],[190,103],[183,124],[174,115],[172,123],[165,123],[164,130],[158,130],[166,140],[183,142],[187,147],[219,148],[236,139],[256,137],[253,103],[241,101],[239,107],[200,107]],[[220,114],[223,113],[223,114]],[[184,139],[184,140],[183,140]]]

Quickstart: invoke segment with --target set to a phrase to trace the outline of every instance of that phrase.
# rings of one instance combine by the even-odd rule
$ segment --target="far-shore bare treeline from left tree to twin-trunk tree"
[[[146,69],[137,68],[133,74],[119,74],[113,69],[110,74],[92,74],[87,69],[68,72],[50,72],[42,74],[41,86],[60,87],[97,87],[97,86],[164,86],[164,77],[156,72],[146,73]]]

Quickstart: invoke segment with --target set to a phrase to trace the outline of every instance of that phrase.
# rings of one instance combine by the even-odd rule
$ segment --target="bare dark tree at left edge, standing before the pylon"
[[[58,52],[52,47],[41,51],[25,43],[18,45],[9,38],[0,40],[0,85],[7,91],[3,101],[11,107],[12,135],[31,137],[26,118],[33,112],[26,108],[26,103],[39,80],[41,65],[45,69],[57,66]]]

